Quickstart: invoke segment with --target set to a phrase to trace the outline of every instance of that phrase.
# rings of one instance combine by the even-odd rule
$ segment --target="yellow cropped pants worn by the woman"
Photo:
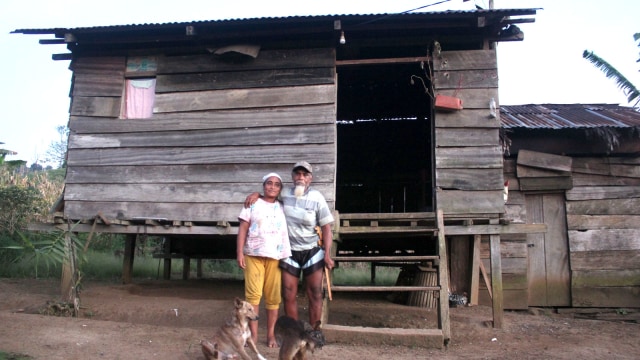
[[[280,308],[282,301],[282,275],[278,267],[278,260],[245,255],[247,267],[244,269],[244,295],[246,300],[254,306],[260,305],[264,293],[264,303],[267,310]]]

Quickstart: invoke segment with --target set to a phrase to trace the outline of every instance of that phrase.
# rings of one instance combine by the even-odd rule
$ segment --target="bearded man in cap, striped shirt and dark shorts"
[[[322,317],[323,268],[331,270],[334,266],[331,259],[331,224],[334,219],[324,196],[311,188],[313,169],[308,162],[297,162],[291,178],[294,187],[283,189],[280,193],[291,243],[291,256],[280,260],[284,311],[288,316],[298,319],[296,297],[302,274],[309,298],[309,323],[315,324]],[[249,195],[247,203],[255,202],[258,196],[258,193]],[[321,229],[322,239],[316,226]]]

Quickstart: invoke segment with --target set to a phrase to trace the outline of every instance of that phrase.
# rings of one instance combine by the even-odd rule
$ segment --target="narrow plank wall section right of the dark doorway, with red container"
[[[451,214],[502,213],[502,149],[495,50],[446,51],[434,55],[435,94],[455,96],[463,109],[435,114],[437,206]]]

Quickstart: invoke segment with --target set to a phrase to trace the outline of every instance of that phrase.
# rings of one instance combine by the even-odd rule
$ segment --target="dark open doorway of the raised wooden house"
[[[432,110],[424,64],[341,66],[336,209],[433,211]]]

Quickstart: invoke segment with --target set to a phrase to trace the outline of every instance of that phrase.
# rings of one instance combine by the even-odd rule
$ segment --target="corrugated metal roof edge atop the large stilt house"
[[[430,16],[467,16],[467,15],[503,15],[503,16],[519,16],[519,15],[535,15],[536,11],[540,8],[527,8],[527,9],[484,9],[484,10],[447,10],[447,11],[432,11],[432,12],[406,12],[406,13],[381,13],[381,14],[332,14],[332,15],[297,15],[297,16],[283,16],[283,17],[262,17],[262,18],[234,18],[234,19],[219,19],[219,20],[194,20],[183,22],[169,22],[169,23],[144,23],[144,24],[128,24],[128,25],[109,25],[109,26],[92,26],[92,27],[76,27],[76,28],[39,28],[39,29],[16,29],[12,33],[20,34],[54,34],[66,31],[73,32],[110,32],[110,31],[122,31],[122,30],[136,30],[136,29],[148,29],[155,27],[171,27],[171,26],[185,26],[185,25],[214,25],[214,24],[232,24],[243,22],[269,22],[269,21],[304,21],[304,20],[323,20],[340,18],[343,20],[359,20],[366,19],[367,21],[378,21],[387,18],[402,17],[430,17]]]

